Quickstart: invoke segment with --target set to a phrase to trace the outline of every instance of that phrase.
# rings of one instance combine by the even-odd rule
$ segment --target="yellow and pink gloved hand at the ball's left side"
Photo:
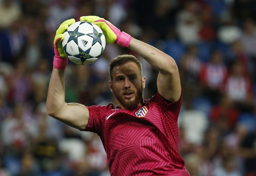
[[[64,32],[68,29],[68,26],[75,23],[75,19],[66,20],[63,23],[60,24],[60,27],[56,31],[56,35],[54,37],[54,53],[55,56],[53,58],[53,67],[62,70],[67,67],[68,64],[68,58],[61,46],[61,43],[64,39]]]

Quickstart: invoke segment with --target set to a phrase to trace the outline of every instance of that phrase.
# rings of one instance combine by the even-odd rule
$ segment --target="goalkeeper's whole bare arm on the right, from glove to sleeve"
[[[178,67],[172,57],[157,48],[132,39],[129,49],[138,53],[159,71],[157,89],[161,96],[169,101],[177,101],[181,95]]]

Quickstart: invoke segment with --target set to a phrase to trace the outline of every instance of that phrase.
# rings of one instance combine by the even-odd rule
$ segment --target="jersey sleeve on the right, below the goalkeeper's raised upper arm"
[[[181,108],[182,92],[180,95],[180,99],[171,103],[167,103],[158,92],[153,97],[153,99],[155,99],[154,101],[156,102],[159,111],[164,117],[168,118],[171,121],[178,120]]]

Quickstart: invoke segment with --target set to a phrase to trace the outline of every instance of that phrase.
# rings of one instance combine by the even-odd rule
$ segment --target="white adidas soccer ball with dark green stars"
[[[77,21],[64,32],[62,48],[68,59],[76,64],[91,64],[99,59],[106,39],[99,26]]]

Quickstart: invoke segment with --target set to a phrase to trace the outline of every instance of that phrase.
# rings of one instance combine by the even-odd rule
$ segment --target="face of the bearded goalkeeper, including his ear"
[[[134,62],[117,65],[112,71],[110,89],[115,93],[122,109],[135,109],[143,103],[146,77],[141,78],[139,67]]]

